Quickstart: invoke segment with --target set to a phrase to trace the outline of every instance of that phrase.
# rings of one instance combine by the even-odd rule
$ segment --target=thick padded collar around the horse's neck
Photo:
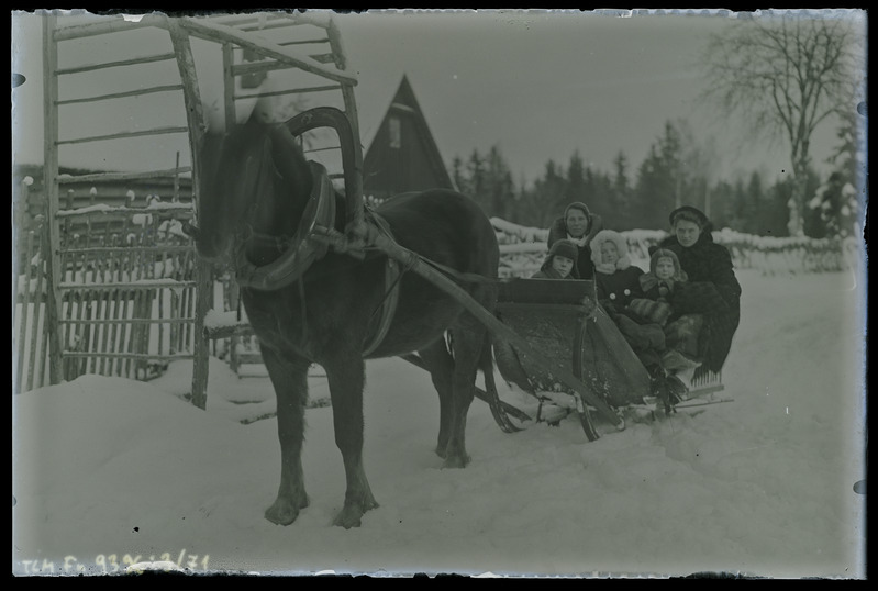
[[[326,169],[313,161],[311,178],[314,179],[296,235],[292,238],[253,232],[251,228],[245,239],[240,239],[235,255],[235,279],[238,286],[273,291],[296,282],[311,265],[325,256],[326,247],[309,239],[314,226],[332,226],[335,223],[335,190],[326,175]],[[257,208],[254,204],[252,208]],[[247,260],[245,245],[249,239],[271,241],[282,254],[274,261],[257,267]],[[286,249],[285,249],[286,248]]]

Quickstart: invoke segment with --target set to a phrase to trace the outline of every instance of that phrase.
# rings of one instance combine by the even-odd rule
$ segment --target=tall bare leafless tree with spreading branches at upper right
[[[865,77],[857,69],[865,14],[863,19],[807,12],[756,15],[712,35],[703,57],[703,97],[720,107],[720,116],[742,114],[754,138],[780,137],[790,149],[791,236],[803,235],[814,131],[833,115],[856,109],[854,97]]]

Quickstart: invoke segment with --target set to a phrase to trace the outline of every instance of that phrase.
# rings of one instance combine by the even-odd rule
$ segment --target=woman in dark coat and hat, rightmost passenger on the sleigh
[[[729,250],[713,242],[712,225],[700,210],[683,205],[670,212],[674,232],[660,244],[673,250],[689,276],[686,292],[675,297],[675,313],[703,313],[704,325],[699,342],[703,364],[696,378],[719,372],[732,346],[732,337],[741,322],[741,285],[735,277]],[[688,301],[687,301],[688,300]],[[680,310],[687,306],[689,310]]]

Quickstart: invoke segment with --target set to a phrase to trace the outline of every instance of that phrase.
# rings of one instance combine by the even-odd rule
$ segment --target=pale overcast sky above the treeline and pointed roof
[[[715,175],[789,170],[782,144],[745,142],[742,122],[698,101],[703,89],[698,58],[709,35],[732,18],[468,11],[335,19],[359,80],[355,94],[365,147],[404,74],[446,164],[497,144],[516,182],[532,181],[549,158],[566,166],[576,149],[598,169],[611,171],[620,150],[636,167],[665,122],[679,118],[689,120],[698,140],[713,138],[721,152]],[[14,155],[18,161],[40,161],[41,34],[38,19],[22,13],[13,14],[13,69],[27,77],[13,90]],[[87,121],[97,127],[99,119]],[[832,124],[816,140],[813,157],[820,164],[835,145]],[[160,166],[170,167],[167,153],[174,149],[165,141],[159,140],[159,147],[167,147],[158,150],[166,159]],[[85,166],[80,160],[88,155],[75,152],[62,164]]]

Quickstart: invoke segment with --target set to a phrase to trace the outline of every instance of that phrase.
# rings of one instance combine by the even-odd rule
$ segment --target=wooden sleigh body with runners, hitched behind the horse
[[[493,345],[501,376],[540,401],[534,420],[556,422],[558,408],[562,417],[575,412],[589,441],[600,436],[598,424],[605,423],[605,416],[558,378],[557,367],[573,373],[588,398],[602,401],[620,416],[629,411],[654,416],[658,402],[646,368],[607,312],[593,302],[592,281],[504,281],[497,316],[520,341],[496,339]],[[542,352],[554,365],[536,361],[527,355],[530,348]],[[721,376],[708,373],[692,383],[686,401],[676,409],[725,402],[714,395],[722,390]]]

